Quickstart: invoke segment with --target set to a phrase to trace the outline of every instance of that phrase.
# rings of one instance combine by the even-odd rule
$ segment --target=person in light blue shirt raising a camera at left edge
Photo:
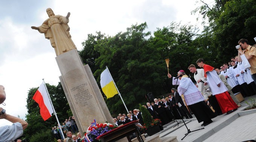
[[[0,85],[0,104],[6,99],[5,87]],[[5,119],[13,123],[11,126],[0,127],[0,142],[12,142],[23,134],[27,128],[27,122],[12,115],[6,114],[5,109],[0,108],[0,119]],[[18,142],[21,140],[18,140]]]

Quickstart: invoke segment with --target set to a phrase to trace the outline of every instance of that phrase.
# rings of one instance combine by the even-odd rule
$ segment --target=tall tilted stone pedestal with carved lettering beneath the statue
[[[95,119],[113,124],[112,117],[90,67],[83,65],[76,49],[56,57],[59,79],[80,132],[86,132]]]

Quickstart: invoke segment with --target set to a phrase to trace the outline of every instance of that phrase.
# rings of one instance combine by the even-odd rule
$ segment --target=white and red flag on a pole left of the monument
[[[40,114],[44,121],[52,116],[53,109],[47,95],[47,90],[44,87],[44,82],[40,85],[37,92],[34,94],[33,100],[38,103],[40,107]]]

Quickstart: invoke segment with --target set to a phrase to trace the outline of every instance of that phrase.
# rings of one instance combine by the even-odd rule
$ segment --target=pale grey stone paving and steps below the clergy
[[[179,142],[242,142],[247,140],[256,140],[256,109],[244,111],[248,108],[247,101],[249,98],[256,99],[256,95],[245,97],[241,102],[241,107],[232,114],[222,114],[213,118],[213,123],[208,126],[201,126],[197,119],[184,119],[187,128],[190,131],[183,140],[181,140],[188,132],[186,126],[182,122],[178,126],[176,121],[166,124],[164,130],[155,134],[160,135],[161,138],[169,136],[177,136]],[[175,126],[175,127],[174,127]],[[204,129],[203,129],[204,128]],[[201,129],[201,130],[198,130]]]

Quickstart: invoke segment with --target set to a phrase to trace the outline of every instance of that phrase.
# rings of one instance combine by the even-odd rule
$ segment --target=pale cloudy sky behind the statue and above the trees
[[[168,26],[172,21],[200,26],[200,13],[191,15],[194,0],[5,0],[0,5],[0,84],[5,86],[6,113],[25,119],[26,98],[30,88],[42,79],[57,85],[61,75],[50,41],[31,26],[40,26],[55,15],[70,15],[70,34],[78,50],[87,34],[101,31],[114,36],[132,24],[147,22],[148,31]],[[0,120],[0,126],[8,121]]]

